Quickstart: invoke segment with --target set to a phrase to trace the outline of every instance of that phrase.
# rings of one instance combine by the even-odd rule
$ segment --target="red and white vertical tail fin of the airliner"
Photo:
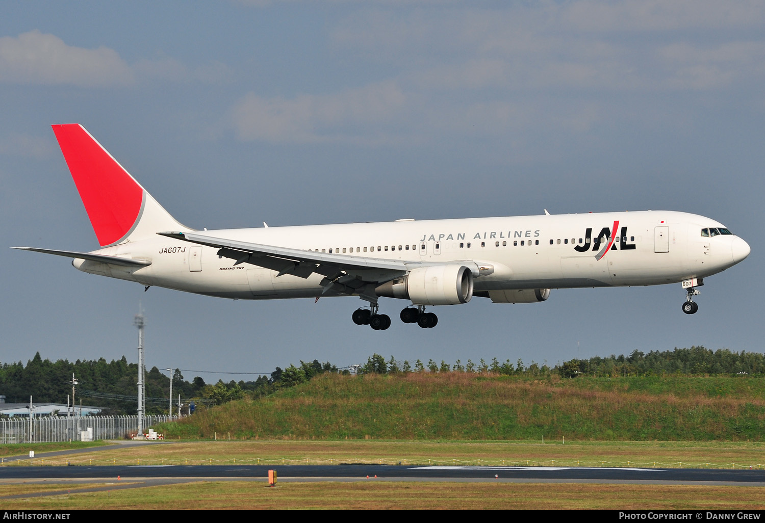
[[[53,125],[99,245],[187,227],[170,216],[80,124]]]

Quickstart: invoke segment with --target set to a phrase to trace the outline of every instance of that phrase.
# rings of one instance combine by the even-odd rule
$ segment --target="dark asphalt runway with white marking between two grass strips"
[[[2,466],[0,482],[264,481],[276,469],[278,481],[448,481],[448,482],[597,482],[682,485],[765,486],[765,470],[636,469],[523,466],[391,465],[149,465]],[[157,481],[158,480],[158,481]],[[145,486],[145,485],[142,485]]]

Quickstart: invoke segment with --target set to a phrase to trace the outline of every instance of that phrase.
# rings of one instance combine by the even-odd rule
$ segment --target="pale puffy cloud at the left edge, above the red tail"
[[[21,84],[114,86],[134,82],[133,72],[108,47],[67,45],[54,34],[34,30],[0,37],[0,81]]]

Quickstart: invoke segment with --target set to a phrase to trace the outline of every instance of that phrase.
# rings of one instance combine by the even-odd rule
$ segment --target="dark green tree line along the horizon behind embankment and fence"
[[[493,358],[490,362],[479,359],[474,362],[457,360],[448,363],[429,359],[420,361],[398,360],[393,356],[386,359],[379,354],[369,356],[366,363],[351,369],[359,374],[395,374],[399,372],[474,372],[498,375],[523,375],[544,377],[552,374],[564,378],[579,375],[591,376],[644,376],[644,375],[762,375],[765,372],[765,355],[759,352],[734,352],[730,349],[712,351],[703,346],[690,349],[650,351],[647,354],[634,350],[629,356],[593,356],[590,359],[571,359],[558,365],[531,362],[525,365],[521,359],[515,363],[506,359],[501,362]],[[200,404],[223,404],[241,398],[258,398],[270,395],[279,388],[291,387],[308,382],[314,376],[325,372],[347,374],[349,369],[338,369],[330,362],[300,362],[285,369],[276,367],[270,376],[260,375],[254,381],[219,380],[208,385],[199,376],[191,382],[184,379],[179,369],[173,375],[173,396],[181,395],[182,401],[197,401]],[[109,409],[109,414],[135,414],[136,384],[138,365],[122,359],[106,362],[105,359],[69,362],[59,359],[51,362],[42,359],[37,352],[26,365],[21,362],[0,364],[0,395],[6,401],[24,403],[31,395],[34,401],[66,403],[71,393],[72,374],[80,382],[77,386],[77,404],[89,404]],[[158,398],[147,402],[148,413],[167,412],[170,378],[157,367],[146,373],[147,398]],[[177,400],[174,399],[174,403]]]

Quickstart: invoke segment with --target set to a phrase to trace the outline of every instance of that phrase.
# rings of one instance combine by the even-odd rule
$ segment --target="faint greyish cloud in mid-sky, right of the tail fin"
[[[248,93],[233,106],[230,119],[242,140],[373,142],[389,139],[386,123],[405,105],[402,90],[388,81],[293,99]]]

